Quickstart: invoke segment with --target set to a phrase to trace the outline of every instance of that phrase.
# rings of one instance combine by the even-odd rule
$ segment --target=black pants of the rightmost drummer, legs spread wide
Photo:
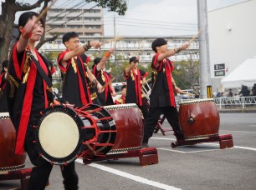
[[[174,132],[181,132],[177,107],[150,107],[144,125],[143,143],[148,143],[149,138],[152,137],[161,113],[164,114]]]

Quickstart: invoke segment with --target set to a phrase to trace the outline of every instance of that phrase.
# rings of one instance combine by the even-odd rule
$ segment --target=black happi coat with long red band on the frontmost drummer
[[[15,153],[23,153],[23,144],[33,164],[38,158],[34,140],[33,124],[38,122],[40,112],[49,107],[54,101],[53,93],[47,87],[43,77],[38,72],[34,61],[38,62],[46,76],[51,81],[54,72],[51,62],[37,51],[38,61],[32,59],[29,47],[23,52],[17,52],[17,43],[13,47],[12,56],[8,66],[8,82],[6,86],[8,95],[8,110],[13,125],[18,132]]]

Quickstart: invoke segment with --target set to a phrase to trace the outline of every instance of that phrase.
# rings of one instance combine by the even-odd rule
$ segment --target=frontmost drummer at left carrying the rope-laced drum
[[[8,65],[8,107],[13,125],[18,133],[15,153],[25,150],[34,166],[28,190],[44,189],[53,165],[42,158],[33,143],[34,124],[49,104],[54,101],[51,91],[51,75],[54,67],[35,48],[44,32],[44,22],[38,13],[25,12],[18,19],[19,40],[15,43]],[[65,189],[78,189],[78,176],[74,162],[62,170]]]

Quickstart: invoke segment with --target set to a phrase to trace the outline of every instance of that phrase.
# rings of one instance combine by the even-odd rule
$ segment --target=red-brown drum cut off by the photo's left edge
[[[15,154],[16,131],[8,112],[0,112],[0,173],[25,167],[26,153]]]

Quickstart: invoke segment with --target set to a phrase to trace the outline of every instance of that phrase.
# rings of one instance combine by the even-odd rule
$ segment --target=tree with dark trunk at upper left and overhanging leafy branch
[[[8,59],[8,52],[10,50],[10,43],[13,37],[13,26],[15,21],[15,14],[20,11],[28,11],[34,8],[40,7],[44,2],[44,7],[48,6],[51,0],[38,0],[34,4],[28,4],[23,2],[17,2],[16,0],[6,0],[2,2],[2,13],[0,15],[0,66],[2,62]],[[117,12],[120,15],[124,15],[127,9],[127,3],[125,0],[85,0],[86,2],[97,2],[101,7],[108,7],[109,11]],[[44,8],[43,7],[43,8]],[[46,14],[44,15],[45,22]],[[37,48],[41,47],[44,42],[54,40],[57,36],[51,39],[45,40],[44,35],[38,43]]]

